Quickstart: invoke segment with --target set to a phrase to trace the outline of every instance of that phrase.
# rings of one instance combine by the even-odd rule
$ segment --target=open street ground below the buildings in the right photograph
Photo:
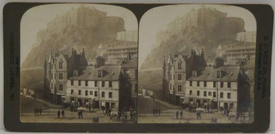
[[[211,118],[216,117],[217,123],[240,123],[229,121],[228,117],[223,116],[221,112],[215,113],[201,113],[202,119],[198,120],[196,113],[189,113],[187,110],[183,110],[183,119],[176,119],[177,109],[168,108],[158,102],[153,101],[150,98],[139,96],[139,123],[211,123]],[[161,110],[160,116],[153,115],[153,109],[157,108]],[[246,114],[245,123],[249,123],[249,118]]]

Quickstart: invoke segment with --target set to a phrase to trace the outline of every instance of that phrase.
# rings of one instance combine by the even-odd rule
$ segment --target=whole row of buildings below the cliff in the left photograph
[[[58,51],[45,60],[44,89],[54,104],[93,105],[94,108],[122,108],[136,106],[137,58],[128,55],[121,64],[105,64],[96,57],[88,64],[85,51],[71,55]]]

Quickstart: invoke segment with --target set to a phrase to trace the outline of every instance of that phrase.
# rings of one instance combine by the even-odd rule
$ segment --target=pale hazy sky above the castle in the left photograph
[[[96,9],[106,12],[106,16],[117,16],[124,19],[126,30],[136,30],[137,20],[135,15],[128,9],[112,5],[85,4],[85,7],[95,7]],[[71,8],[78,8],[80,4],[49,4],[37,6],[26,11],[21,19],[20,27],[20,62],[24,61],[36,43],[36,33],[39,29],[46,28],[47,22],[53,20],[57,15],[62,15]]]

